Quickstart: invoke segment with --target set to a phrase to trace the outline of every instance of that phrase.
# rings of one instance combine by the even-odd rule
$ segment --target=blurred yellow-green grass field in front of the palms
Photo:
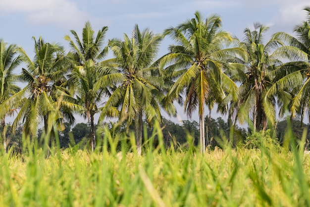
[[[1,207],[309,206],[310,155],[44,150],[0,158]]]

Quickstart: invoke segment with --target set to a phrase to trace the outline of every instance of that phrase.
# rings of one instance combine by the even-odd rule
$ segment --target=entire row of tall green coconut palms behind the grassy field
[[[276,127],[276,113],[304,120],[309,113],[310,7],[306,20],[296,25],[295,36],[277,32],[264,39],[268,27],[254,23],[239,40],[222,30],[218,15],[200,12],[162,34],[134,26],[132,36],[110,39],[107,27],[97,33],[87,21],[79,36],[71,30],[66,52],[58,43],[34,40],[33,58],[22,47],[0,40],[0,118],[6,149],[7,116],[15,116],[11,129],[22,123],[25,137],[35,137],[43,123],[44,135],[55,140],[64,123],[74,124],[79,113],[90,125],[89,146],[96,147],[94,116],[98,124],[117,118],[126,131],[133,126],[141,154],[144,120],[162,123],[161,111],[176,116],[175,102],[189,117],[198,109],[199,144],[206,150],[210,112],[228,115],[228,127],[247,123],[251,133]],[[163,38],[173,44],[157,58]],[[113,58],[105,60],[108,52]],[[26,65],[21,74],[13,70]],[[27,85],[18,87],[19,82]],[[277,111],[276,108],[279,108]],[[210,115],[210,114],[209,114]],[[210,121],[210,116],[208,116]],[[208,139],[207,139],[208,141]]]

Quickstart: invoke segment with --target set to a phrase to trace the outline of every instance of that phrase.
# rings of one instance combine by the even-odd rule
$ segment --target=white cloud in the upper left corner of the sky
[[[39,24],[72,25],[86,16],[71,0],[1,0],[0,11],[19,13],[29,22]]]

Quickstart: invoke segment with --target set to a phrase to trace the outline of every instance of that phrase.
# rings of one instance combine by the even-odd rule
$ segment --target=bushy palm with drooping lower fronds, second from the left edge
[[[22,48],[18,48],[21,59],[27,66],[27,69],[22,69],[20,79],[27,85],[7,99],[0,109],[0,114],[11,106],[19,109],[13,122],[13,129],[24,122],[23,130],[26,136],[35,136],[42,120],[46,133],[49,126],[60,129],[63,119],[74,122],[72,111],[76,108],[74,104],[60,100],[57,89],[57,85],[64,82],[68,70],[66,66],[69,62],[63,54],[63,48],[58,44],[44,42],[42,37],[38,41],[35,37],[33,39],[35,43],[33,61]]]

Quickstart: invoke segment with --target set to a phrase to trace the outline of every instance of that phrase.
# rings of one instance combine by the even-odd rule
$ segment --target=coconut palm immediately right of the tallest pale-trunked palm
[[[238,118],[239,122],[243,123],[248,119],[254,132],[266,129],[268,121],[272,125],[275,123],[276,100],[279,105],[288,100],[289,87],[293,83],[293,74],[288,73],[297,62],[283,64],[282,60],[305,57],[296,48],[285,46],[277,35],[264,44],[264,34],[268,29],[267,26],[255,23],[253,31],[250,28],[244,30],[243,41],[236,39],[239,47],[247,52],[249,59],[244,61],[243,71],[237,73],[237,81],[241,82],[241,86],[238,103],[235,102],[232,106],[237,110],[235,120]],[[296,81],[300,78],[293,78],[297,84]],[[284,79],[289,80],[290,84],[283,84]],[[284,111],[285,108],[282,108],[280,113],[283,114]]]

